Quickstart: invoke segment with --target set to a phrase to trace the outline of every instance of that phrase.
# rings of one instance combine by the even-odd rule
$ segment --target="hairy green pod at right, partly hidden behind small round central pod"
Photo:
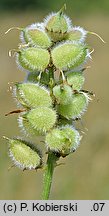
[[[57,111],[67,119],[80,118],[87,109],[88,99],[86,93],[74,94],[72,102],[67,105],[58,105]]]

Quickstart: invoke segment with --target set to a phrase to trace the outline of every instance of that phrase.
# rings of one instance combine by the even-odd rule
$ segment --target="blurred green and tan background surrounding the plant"
[[[9,86],[22,81],[25,74],[8,56],[8,51],[20,42],[19,32],[4,32],[12,26],[40,22],[64,3],[65,0],[0,0],[0,199],[40,199],[43,174],[42,170],[8,170],[12,163],[2,137],[22,136],[17,115],[5,117],[5,113],[16,109]],[[109,199],[109,1],[66,0],[66,4],[66,13],[74,25],[97,32],[107,43],[92,35],[87,38],[95,51],[89,62],[91,68],[85,72],[84,89],[95,92],[96,97],[82,123],[78,123],[78,129],[84,131],[79,149],[62,159],[65,165],[54,172],[50,199]]]

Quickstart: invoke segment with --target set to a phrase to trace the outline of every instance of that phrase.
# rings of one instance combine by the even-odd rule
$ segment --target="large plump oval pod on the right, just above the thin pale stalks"
[[[51,55],[56,68],[70,70],[83,64],[88,53],[86,46],[83,44],[65,42],[56,46]]]

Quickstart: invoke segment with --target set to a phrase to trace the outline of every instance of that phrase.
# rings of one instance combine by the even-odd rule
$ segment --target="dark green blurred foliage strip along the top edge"
[[[57,10],[64,3],[67,4],[68,10],[73,9],[73,13],[87,13],[92,11],[104,11],[105,13],[109,11],[109,1],[108,0],[0,0],[1,10],[25,10],[25,9],[41,9],[41,10]]]

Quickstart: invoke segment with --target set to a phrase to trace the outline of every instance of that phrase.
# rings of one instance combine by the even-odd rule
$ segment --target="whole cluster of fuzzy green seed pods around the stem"
[[[27,76],[14,86],[14,97],[23,110],[19,126],[26,135],[43,136],[47,152],[66,157],[79,146],[81,135],[74,121],[89,102],[89,94],[82,90],[84,64],[90,58],[88,32],[73,26],[63,8],[43,23],[20,30],[16,62]],[[39,147],[21,138],[9,139],[10,156],[21,169],[42,167]]]

